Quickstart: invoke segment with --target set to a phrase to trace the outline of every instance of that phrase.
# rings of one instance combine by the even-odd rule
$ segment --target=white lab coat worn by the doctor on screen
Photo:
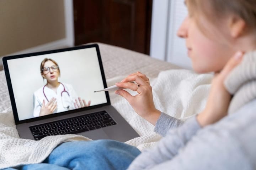
[[[64,90],[65,86],[65,90],[69,93],[69,96],[66,92],[63,92],[62,97],[61,97],[61,93]],[[55,111],[53,113],[59,113],[59,112],[64,112],[64,111],[68,111],[71,109],[75,109],[74,106],[74,102],[75,99],[78,99],[78,95],[76,94],[74,88],[72,85],[70,84],[66,84],[63,83],[59,85],[58,89],[57,89],[57,94],[52,90],[49,89],[48,87],[44,87],[44,94],[46,95],[47,99],[50,101],[51,98],[56,98],[57,100],[57,108],[55,109]],[[34,92],[33,94],[33,106],[34,106],[34,117],[38,117],[42,104],[43,104],[43,100],[45,102],[45,104],[48,103],[48,101],[46,100],[46,97],[43,94],[43,87],[41,87],[40,89],[38,89],[37,91]],[[63,101],[63,102],[62,102]],[[64,106],[63,106],[63,104]],[[69,106],[69,108],[64,108]]]

